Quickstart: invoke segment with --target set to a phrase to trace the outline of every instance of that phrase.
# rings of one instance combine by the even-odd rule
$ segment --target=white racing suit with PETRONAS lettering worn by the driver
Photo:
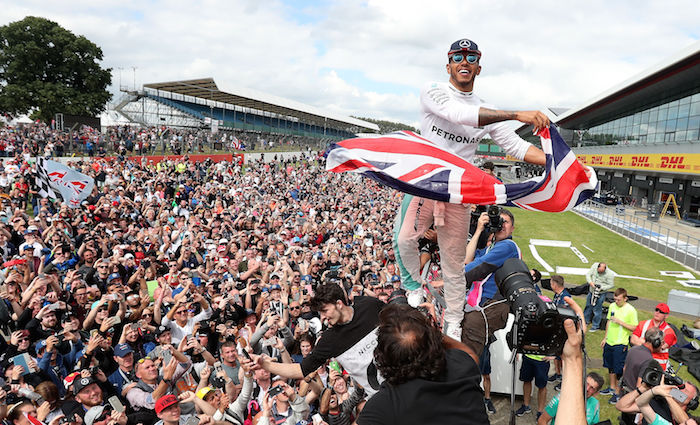
[[[442,149],[473,162],[479,142],[489,135],[506,153],[522,160],[530,143],[505,123],[479,127],[479,109],[495,109],[471,93],[460,92],[450,83],[429,83],[421,91],[421,135]],[[449,204],[404,196],[394,225],[394,252],[404,289],[421,286],[418,239],[435,224],[442,272],[445,279],[445,321],[458,324],[464,315],[468,205]]]

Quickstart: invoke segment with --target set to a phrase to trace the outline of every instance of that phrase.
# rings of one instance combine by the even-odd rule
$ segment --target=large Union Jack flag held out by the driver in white
[[[456,204],[502,204],[563,212],[590,198],[598,179],[576,160],[554,126],[538,134],[546,154],[545,173],[504,184],[461,157],[410,131],[347,139],[331,145],[326,170],[350,171],[396,190]]]

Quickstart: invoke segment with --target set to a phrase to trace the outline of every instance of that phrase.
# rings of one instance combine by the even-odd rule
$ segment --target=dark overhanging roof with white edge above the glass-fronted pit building
[[[557,117],[569,129],[587,129],[700,88],[700,41]]]

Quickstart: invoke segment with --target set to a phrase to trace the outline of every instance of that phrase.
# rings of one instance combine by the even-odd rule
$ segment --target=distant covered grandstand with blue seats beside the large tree
[[[114,108],[142,126],[212,128],[278,137],[337,140],[376,124],[250,89],[221,90],[212,78],[144,84]]]

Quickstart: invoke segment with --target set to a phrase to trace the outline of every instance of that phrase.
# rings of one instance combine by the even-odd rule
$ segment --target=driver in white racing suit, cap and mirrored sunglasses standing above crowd
[[[489,135],[508,154],[519,160],[544,165],[544,152],[525,140],[502,121],[517,120],[536,130],[547,127],[549,119],[539,111],[499,111],[473,92],[481,73],[481,51],[466,38],[452,43],[447,52],[449,82],[429,83],[421,91],[421,135],[441,148],[472,162],[482,138]],[[445,278],[445,333],[461,337],[464,293],[462,261],[469,235],[468,205],[448,204],[405,195],[394,226],[394,251],[407,290],[408,303],[422,303],[424,289],[420,276],[418,240],[435,223]]]

